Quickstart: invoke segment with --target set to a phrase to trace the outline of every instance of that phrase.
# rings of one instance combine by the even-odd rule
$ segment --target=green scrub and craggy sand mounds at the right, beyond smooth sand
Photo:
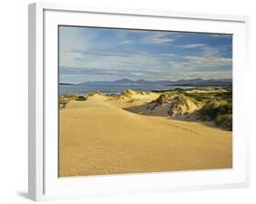
[[[220,128],[232,130],[232,91],[230,88],[215,89],[162,93],[148,108],[154,111],[169,106],[170,117],[196,116],[213,121]]]

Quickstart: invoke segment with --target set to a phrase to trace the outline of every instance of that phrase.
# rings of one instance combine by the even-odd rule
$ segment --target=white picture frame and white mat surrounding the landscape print
[[[74,199],[249,185],[246,86],[249,17],[35,3],[29,13],[30,199]],[[233,40],[233,168],[76,178],[57,177],[57,25],[229,33]],[[169,25],[169,26],[167,26]],[[50,68],[49,68],[50,67]]]

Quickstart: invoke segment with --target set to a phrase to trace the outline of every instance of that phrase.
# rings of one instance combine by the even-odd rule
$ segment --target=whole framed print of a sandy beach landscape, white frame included
[[[248,24],[29,5],[29,198],[246,187]]]

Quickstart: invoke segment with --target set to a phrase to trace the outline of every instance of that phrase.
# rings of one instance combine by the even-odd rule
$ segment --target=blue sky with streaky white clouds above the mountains
[[[59,26],[59,81],[232,77],[232,36]]]

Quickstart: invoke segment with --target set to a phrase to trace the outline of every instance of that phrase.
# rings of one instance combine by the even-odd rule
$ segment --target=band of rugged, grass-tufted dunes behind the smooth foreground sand
[[[94,96],[108,97],[108,100],[124,100],[129,105],[123,109],[140,115],[200,120],[212,122],[218,128],[232,130],[232,88],[229,86],[177,88],[165,91],[127,89],[120,94],[108,95],[94,90],[87,96],[62,95],[59,97],[59,107],[66,107],[72,100],[86,101]]]

